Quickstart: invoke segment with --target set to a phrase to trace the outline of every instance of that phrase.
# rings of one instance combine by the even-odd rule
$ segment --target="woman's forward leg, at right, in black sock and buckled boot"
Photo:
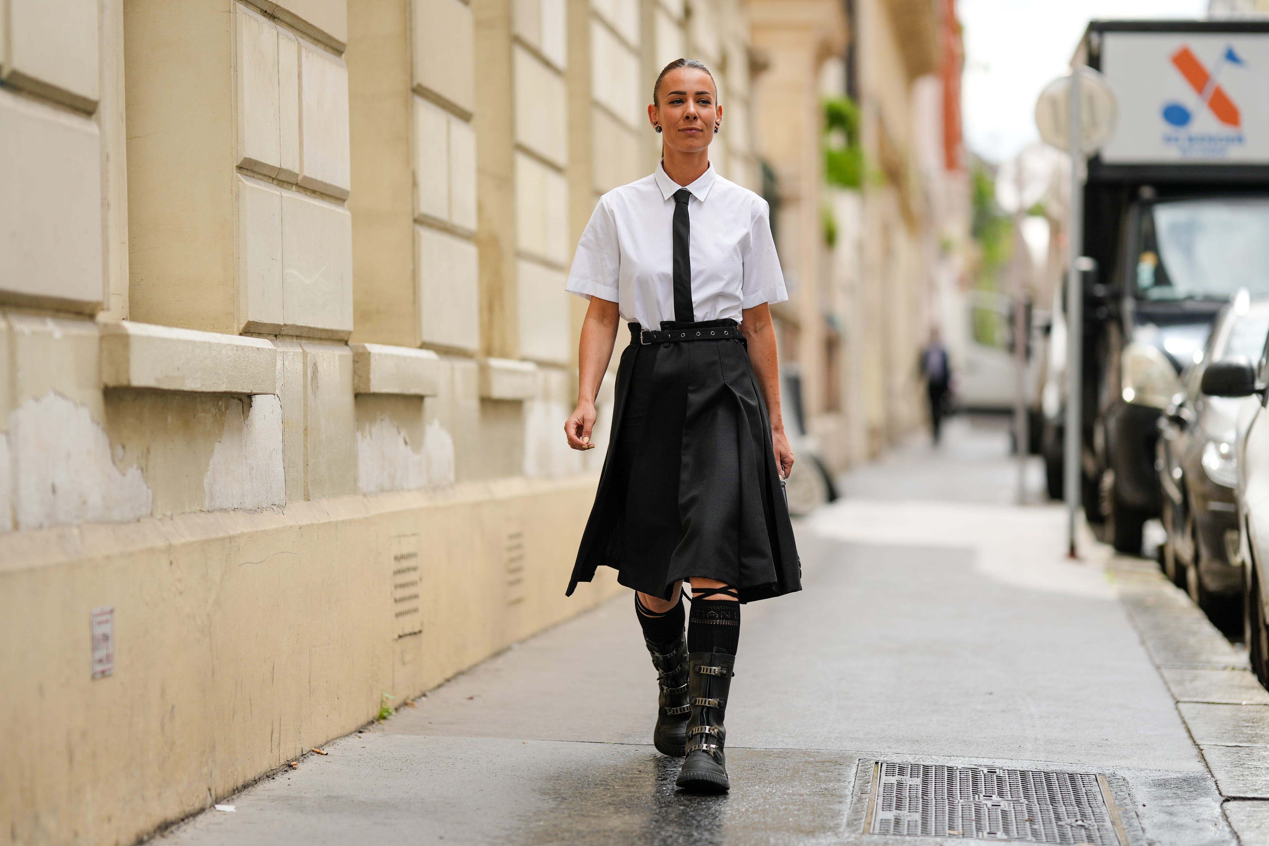
[[[736,589],[713,578],[692,580],[692,618],[688,623],[687,758],[676,784],[695,793],[731,789],[723,742],[723,715],[731,690],[736,646],[740,643],[740,597]]]

